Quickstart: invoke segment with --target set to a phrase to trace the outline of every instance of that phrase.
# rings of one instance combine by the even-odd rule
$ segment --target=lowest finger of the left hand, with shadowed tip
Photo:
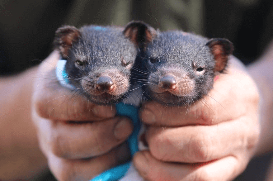
[[[128,145],[122,144],[104,155],[86,160],[63,159],[50,153],[48,164],[59,181],[91,180],[96,175],[129,158]]]

